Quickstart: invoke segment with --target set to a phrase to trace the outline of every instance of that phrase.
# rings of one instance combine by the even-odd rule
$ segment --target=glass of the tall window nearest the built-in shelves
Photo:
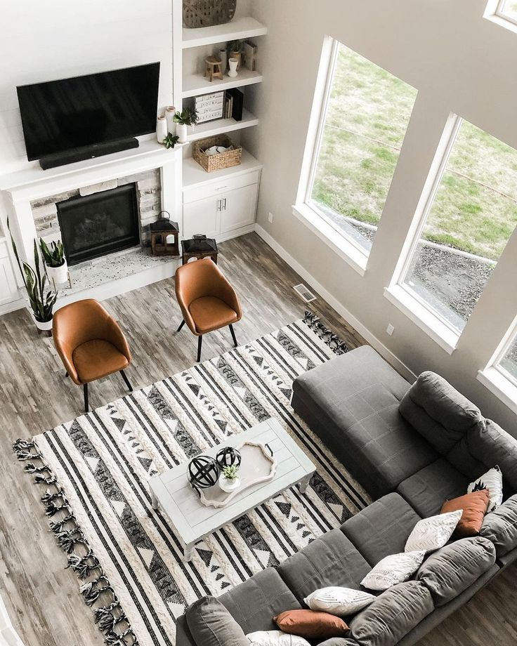
[[[366,255],[417,91],[335,44],[307,202]]]

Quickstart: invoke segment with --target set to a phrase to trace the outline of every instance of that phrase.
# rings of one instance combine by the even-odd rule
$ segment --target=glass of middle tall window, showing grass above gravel
[[[457,118],[402,282],[461,332],[517,224],[517,151]]]

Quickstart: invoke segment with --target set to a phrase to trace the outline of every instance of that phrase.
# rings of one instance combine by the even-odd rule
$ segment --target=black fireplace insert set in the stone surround
[[[69,265],[129,249],[140,242],[134,184],[71,197],[56,206]]]

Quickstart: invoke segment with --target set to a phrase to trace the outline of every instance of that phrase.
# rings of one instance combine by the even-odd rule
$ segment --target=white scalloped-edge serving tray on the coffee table
[[[277,461],[270,454],[268,447],[259,442],[244,442],[235,447],[241,455],[239,468],[240,485],[233,492],[223,492],[219,484],[201,489],[199,501],[207,507],[224,507],[238,494],[259,482],[273,480],[277,470]]]

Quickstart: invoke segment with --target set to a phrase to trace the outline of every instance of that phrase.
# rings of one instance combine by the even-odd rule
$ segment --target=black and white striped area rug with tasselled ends
[[[37,435],[15,451],[42,487],[51,529],[111,646],[173,646],[175,620],[278,565],[367,504],[365,492],[289,405],[293,379],[346,352],[310,312],[253,343],[197,364]],[[275,417],[318,466],[293,487],[197,543],[192,562],[148,479],[225,437]]]

